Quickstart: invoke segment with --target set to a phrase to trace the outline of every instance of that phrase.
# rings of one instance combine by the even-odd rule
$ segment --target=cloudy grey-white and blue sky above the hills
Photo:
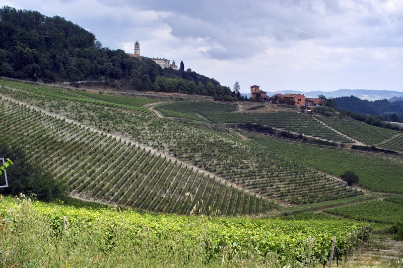
[[[103,46],[182,60],[242,92],[403,92],[402,0],[3,0],[58,15]]]

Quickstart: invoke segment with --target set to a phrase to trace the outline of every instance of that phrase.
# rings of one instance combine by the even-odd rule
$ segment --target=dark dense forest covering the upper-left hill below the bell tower
[[[94,34],[64,18],[0,9],[0,75],[33,81],[91,81],[138,91],[214,96],[231,90],[190,68],[161,68],[149,58],[102,47]]]

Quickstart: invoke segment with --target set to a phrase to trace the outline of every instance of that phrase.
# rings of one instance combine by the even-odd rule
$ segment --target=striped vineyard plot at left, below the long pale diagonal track
[[[73,196],[172,213],[195,208],[259,214],[273,209],[266,199],[150,148],[6,100],[0,114],[5,118],[3,140],[26,148],[27,157],[52,171]]]

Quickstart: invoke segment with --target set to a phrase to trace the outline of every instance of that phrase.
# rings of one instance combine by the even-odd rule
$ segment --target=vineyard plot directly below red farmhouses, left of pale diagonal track
[[[176,102],[160,105],[158,108],[165,116],[189,118],[198,113],[213,123],[261,123],[266,126],[288,130],[334,142],[352,140],[323,126],[313,118],[299,112],[250,113],[236,112],[234,104],[212,102]],[[200,119],[199,119],[200,120]]]

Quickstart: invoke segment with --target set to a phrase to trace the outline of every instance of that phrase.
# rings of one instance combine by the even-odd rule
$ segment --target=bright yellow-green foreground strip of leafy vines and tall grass
[[[343,259],[351,220],[252,219],[86,209],[1,196],[2,267],[311,267],[332,243]],[[63,223],[63,216],[66,221]]]

